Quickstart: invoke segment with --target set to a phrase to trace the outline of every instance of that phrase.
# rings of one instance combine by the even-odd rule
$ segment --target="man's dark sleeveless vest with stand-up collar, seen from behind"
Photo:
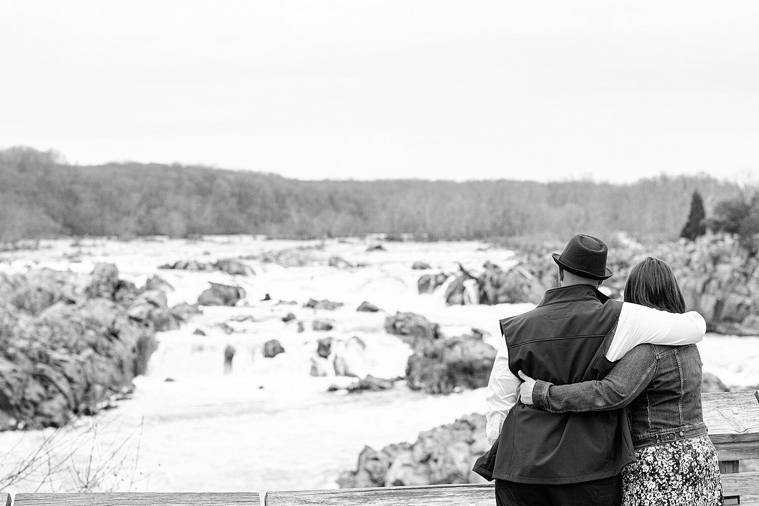
[[[568,385],[602,379],[622,303],[587,284],[546,291],[528,313],[502,319],[509,369]],[[604,345],[605,344],[605,345]],[[635,462],[625,410],[549,413],[518,402],[501,430],[493,477],[512,482],[586,482]]]

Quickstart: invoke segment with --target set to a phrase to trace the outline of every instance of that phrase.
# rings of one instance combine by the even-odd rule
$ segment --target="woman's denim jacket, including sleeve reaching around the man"
[[[628,406],[635,448],[707,433],[701,411],[701,356],[694,344],[640,344],[601,380],[574,385],[538,380],[533,401],[553,413]]]

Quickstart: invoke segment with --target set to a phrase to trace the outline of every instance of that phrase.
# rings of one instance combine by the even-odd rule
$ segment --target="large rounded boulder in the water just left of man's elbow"
[[[470,336],[427,341],[408,357],[406,383],[412,390],[450,394],[487,386],[496,349]]]

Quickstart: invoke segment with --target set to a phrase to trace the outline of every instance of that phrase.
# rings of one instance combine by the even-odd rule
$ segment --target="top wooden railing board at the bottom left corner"
[[[255,492],[135,492],[118,494],[17,494],[14,506],[259,506]]]

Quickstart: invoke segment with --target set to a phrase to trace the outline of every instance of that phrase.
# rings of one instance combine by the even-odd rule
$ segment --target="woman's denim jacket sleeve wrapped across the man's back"
[[[656,369],[653,346],[639,344],[604,379],[572,385],[537,380],[532,390],[533,402],[535,407],[551,413],[616,410],[638,397]]]

